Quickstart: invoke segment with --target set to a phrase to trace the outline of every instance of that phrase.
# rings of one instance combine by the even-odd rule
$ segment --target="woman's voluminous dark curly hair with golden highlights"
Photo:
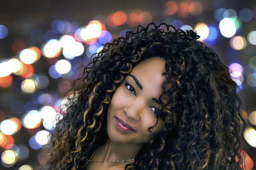
[[[125,169],[240,169],[244,118],[237,84],[195,31],[154,23],[106,43],[83,69],[47,147],[49,169],[84,169],[106,142],[111,97],[132,67],[150,57],[165,63],[164,128]],[[241,124],[242,122],[242,124]],[[236,159],[238,161],[236,161]]]

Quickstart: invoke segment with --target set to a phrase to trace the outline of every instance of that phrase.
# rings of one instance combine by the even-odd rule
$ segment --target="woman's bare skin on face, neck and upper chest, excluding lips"
[[[98,148],[88,169],[124,169],[124,163],[93,162],[126,160],[136,157],[141,147],[152,139],[148,127],[154,127],[157,118],[154,111],[161,109],[156,101],[162,93],[165,61],[159,57],[144,60],[135,66],[124,83],[116,89],[108,108],[108,142]],[[124,133],[116,127],[116,118],[131,125],[136,132]],[[158,120],[151,131],[156,136],[164,123]]]

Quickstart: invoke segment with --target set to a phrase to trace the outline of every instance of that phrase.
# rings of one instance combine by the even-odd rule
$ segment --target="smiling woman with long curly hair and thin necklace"
[[[150,23],[104,45],[52,132],[47,167],[240,169],[237,85],[198,38]]]

